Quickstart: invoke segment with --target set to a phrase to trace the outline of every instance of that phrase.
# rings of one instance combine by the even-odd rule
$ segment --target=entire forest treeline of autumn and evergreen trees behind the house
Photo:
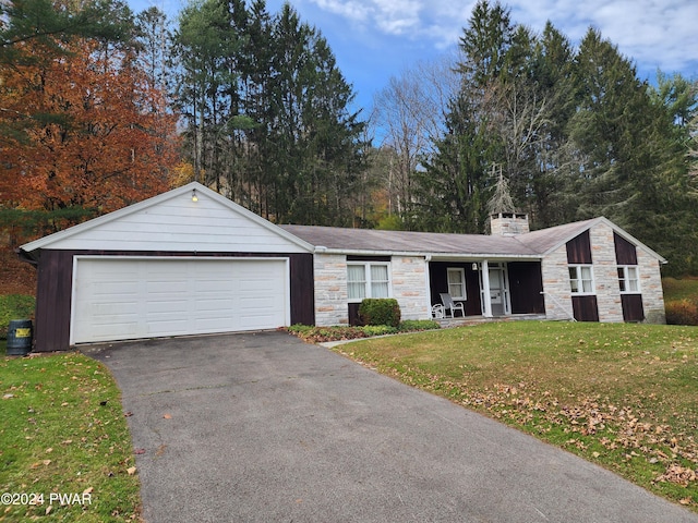
[[[279,223],[482,233],[492,210],[533,229],[605,216],[667,273],[698,273],[698,84],[640,80],[594,28],[575,46],[480,0],[453,54],[359,108],[290,3],[196,0],[173,21],[119,0],[0,13],[12,238],[197,180]]]

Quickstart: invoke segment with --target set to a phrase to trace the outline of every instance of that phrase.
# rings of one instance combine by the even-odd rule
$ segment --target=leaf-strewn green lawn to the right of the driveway
[[[493,323],[337,352],[698,512],[698,329]]]

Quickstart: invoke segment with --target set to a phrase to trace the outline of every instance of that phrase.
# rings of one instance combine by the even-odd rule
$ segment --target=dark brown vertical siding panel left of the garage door
[[[70,348],[72,281],[72,253],[43,251],[36,293],[35,351],[65,351]]]

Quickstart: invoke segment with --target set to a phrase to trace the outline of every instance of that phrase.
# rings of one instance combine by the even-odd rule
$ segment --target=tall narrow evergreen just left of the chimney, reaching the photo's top
[[[480,0],[460,39],[461,83],[446,118],[447,132],[414,177],[411,228],[484,232],[486,202],[496,182],[489,171],[505,147],[497,98],[513,38],[508,9]]]

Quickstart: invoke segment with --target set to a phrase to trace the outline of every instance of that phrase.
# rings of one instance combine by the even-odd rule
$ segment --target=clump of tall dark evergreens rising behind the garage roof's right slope
[[[203,0],[180,17],[179,99],[202,181],[274,221],[351,223],[363,124],[327,41],[285,4]]]

